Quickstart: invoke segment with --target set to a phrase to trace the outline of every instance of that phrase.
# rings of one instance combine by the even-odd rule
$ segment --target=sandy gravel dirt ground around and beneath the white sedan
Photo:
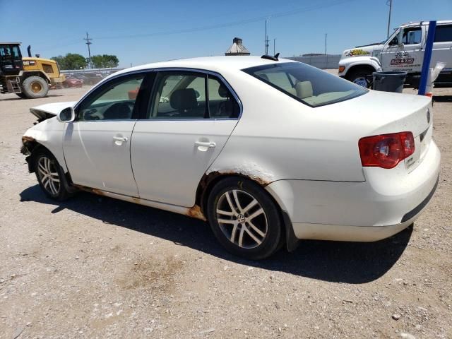
[[[452,338],[451,89],[435,89],[441,179],[414,228],[258,262],[183,215],[42,194],[19,152],[28,109],[87,89],[0,96],[0,338]]]

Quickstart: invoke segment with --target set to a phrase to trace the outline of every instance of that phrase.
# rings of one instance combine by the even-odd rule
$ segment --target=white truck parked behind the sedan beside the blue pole
[[[397,28],[386,41],[345,49],[339,61],[339,76],[369,87],[369,77],[375,71],[405,71],[405,84],[419,86],[429,22],[408,23]],[[452,20],[436,23],[432,61],[446,63],[435,85],[452,87]]]

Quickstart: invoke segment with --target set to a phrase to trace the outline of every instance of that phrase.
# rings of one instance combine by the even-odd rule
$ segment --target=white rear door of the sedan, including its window
[[[131,162],[140,198],[194,206],[201,177],[237,124],[240,104],[220,76],[160,71],[137,121]]]

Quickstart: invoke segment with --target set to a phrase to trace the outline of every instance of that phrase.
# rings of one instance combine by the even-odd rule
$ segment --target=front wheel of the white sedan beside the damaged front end
[[[44,148],[36,150],[36,152],[33,153],[32,162],[37,182],[40,184],[40,187],[46,196],[57,201],[64,201],[72,196],[66,189],[68,184],[64,171],[52,153]],[[46,170],[49,173],[56,174],[47,176],[46,180],[44,177],[44,172],[46,172]]]

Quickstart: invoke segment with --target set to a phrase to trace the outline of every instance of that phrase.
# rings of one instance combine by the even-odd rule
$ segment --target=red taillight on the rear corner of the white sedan
[[[362,166],[393,168],[415,153],[415,138],[411,132],[367,136],[359,139]]]

